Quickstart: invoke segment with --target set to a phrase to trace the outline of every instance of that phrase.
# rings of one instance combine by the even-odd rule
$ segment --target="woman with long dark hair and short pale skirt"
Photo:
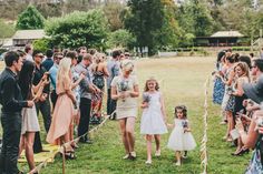
[[[43,90],[43,86],[48,84],[47,75],[43,75],[42,80],[37,86],[32,85],[32,76],[35,71],[35,63],[31,61],[25,61],[23,66],[19,74],[19,86],[22,92],[23,100],[37,101]],[[35,168],[33,162],[33,140],[35,133],[40,131],[36,106],[25,108],[22,110],[22,129],[21,129],[21,140],[19,146],[19,154],[22,150],[26,150],[26,157],[29,164],[30,171]]]

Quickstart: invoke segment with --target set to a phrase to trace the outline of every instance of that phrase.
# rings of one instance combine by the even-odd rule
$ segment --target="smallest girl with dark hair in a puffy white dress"
[[[167,147],[175,151],[176,165],[181,165],[182,151],[191,151],[196,146],[187,120],[187,109],[184,105],[175,108],[174,130],[169,135]],[[185,152],[186,153],[186,152]]]

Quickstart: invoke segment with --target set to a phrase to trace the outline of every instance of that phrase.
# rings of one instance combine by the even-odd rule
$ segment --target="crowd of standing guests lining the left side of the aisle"
[[[116,50],[113,59],[86,47],[77,51],[58,48],[46,55],[27,45],[25,51],[4,54],[6,69],[0,74],[1,124],[3,130],[0,173],[22,173],[17,167],[25,150],[30,171],[35,170],[33,154],[45,151],[40,140],[39,112],[41,112],[46,141],[62,145],[66,158],[76,158],[74,133],[79,142],[92,143],[88,137],[90,119],[103,117],[104,90],[119,74],[119,60],[128,59]],[[109,86],[110,89],[110,86]],[[108,114],[114,113],[116,101],[108,96]],[[111,119],[116,119],[111,114]]]

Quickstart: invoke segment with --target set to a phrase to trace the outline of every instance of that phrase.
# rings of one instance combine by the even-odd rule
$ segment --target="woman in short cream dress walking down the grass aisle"
[[[126,155],[123,158],[134,160],[134,126],[137,116],[137,99],[139,95],[138,81],[132,75],[134,63],[129,60],[121,62],[123,73],[111,82],[111,99],[117,100],[116,115],[119,121]]]

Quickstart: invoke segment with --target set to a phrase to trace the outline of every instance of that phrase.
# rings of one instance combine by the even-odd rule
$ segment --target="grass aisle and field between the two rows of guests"
[[[173,58],[173,59],[147,59],[136,62],[136,74],[139,79],[140,90],[145,85],[145,80],[155,76],[160,81],[160,91],[165,96],[166,112],[169,123],[173,123],[173,110],[177,104],[185,104],[188,108],[188,119],[191,121],[194,137],[198,144],[197,149],[188,153],[188,158],[182,166],[175,166],[174,152],[166,149],[168,134],[162,137],[162,157],[153,158],[150,166],[145,165],[146,141],[139,134],[140,114],[136,122],[136,161],[121,160],[124,147],[120,141],[117,121],[108,121],[98,132],[92,135],[94,144],[79,144],[77,160],[67,161],[66,173],[75,174],[199,174],[199,142],[203,136],[203,114],[204,114],[204,82],[214,69],[215,58]],[[212,94],[212,81],[208,95]],[[220,106],[214,105],[208,99],[208,173],[212,174],[241,174],[245,170],[251,157],[233,157],[231,152],[235,149],[222,141],[226,126],[220,125]],[[153,144],[154,145],[154,144]],[[154,152],[153,152],[154,153]],[[53,164],[48,164],[41,171],[43,174],[62,173],[61,157],[56,157]],[[27,165],[22,165],[28,171]]]

